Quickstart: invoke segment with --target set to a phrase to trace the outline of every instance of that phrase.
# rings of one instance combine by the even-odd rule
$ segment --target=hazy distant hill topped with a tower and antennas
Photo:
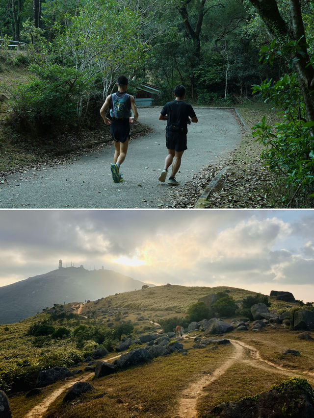
[[[57,270],[0,287],[0,323],[18,322],[53,304],[95,300],[146,284],[104,268],[62,267],[60,260]]]

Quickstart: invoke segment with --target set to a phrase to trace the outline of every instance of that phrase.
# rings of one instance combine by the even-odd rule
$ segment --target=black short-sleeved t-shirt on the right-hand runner
[[[167,127],[169,125],[180,126],[185,132],[187,132],[188,117],[196,116],[193,107],[182,100],[168,101],[160,113],[162,116],[168,116]]]

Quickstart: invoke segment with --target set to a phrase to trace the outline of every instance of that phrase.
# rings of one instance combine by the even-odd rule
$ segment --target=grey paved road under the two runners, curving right
[[[161,107],[139,108],[139,121],[154,132],[131,140],[121,166],[125,181],[113,183],[114,147],[44,170],[17,173],[0,185],[0,208],[158,208],[171,205],[173,187],[158,177],[167,154]],[[183,185],[201,168],[236,148],[241,128],[228,109],[197,108],[198,123],[188,125],[187,147],[176,178]],[[167,181],[167,180],[166,180]]]

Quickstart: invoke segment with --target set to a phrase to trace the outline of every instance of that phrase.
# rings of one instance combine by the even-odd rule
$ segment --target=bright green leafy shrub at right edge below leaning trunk
[[[262,152],[265,165],[286,185],[282,204],[289,207],[300,196],[311,199],[314,197],[314,121],[306,121],[297,74],[285,74],[276,82],[264,80],[261,85],[253,86],[253,93],[261,94],[274,108],[281,109],[277,113],[279,123],[269,125],[263,116],[253,127],[253,136],[265,146]]]

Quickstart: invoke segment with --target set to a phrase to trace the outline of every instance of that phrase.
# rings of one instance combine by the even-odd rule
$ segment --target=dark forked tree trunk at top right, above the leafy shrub
[[[249,0],[263,22],[269,34],[281,45],[289,42],[295,48],[290,54],[298,74],[299,85],[305,103],[308,121],[314,121],[314,67],[309,57],[305,29],[302,19],[301,1],[288,0],[290,22],[284,19],[276,0]],[[297,44],[296,44],[297,43]]]

